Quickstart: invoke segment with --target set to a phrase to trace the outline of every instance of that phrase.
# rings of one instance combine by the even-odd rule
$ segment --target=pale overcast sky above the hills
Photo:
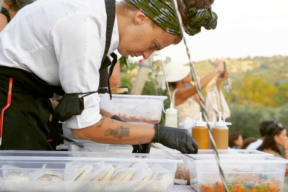
[[[192,60],[208,58],[288,55],[288,1],[215,0],[215,30],[186,36]],[[184,43],[161,50],[162,58],[187,63]]]

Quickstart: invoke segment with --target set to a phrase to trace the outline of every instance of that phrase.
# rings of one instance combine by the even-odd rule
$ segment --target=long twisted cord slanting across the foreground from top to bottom
[[[218,164],[218,168],[219,168],[219,172],[220,172],[220,178],[223,182],[223,185],[224,185],[224,189],[226,192],[228,192],[228,188],[227,188],[227,184],[226,184],[226,180],[225,180],[225,176],[224,176],[224,173],[222,171],[222,168],[220,166],[220,161],[219,161],[219,155],[218,155],[218,152],[217,152],[217,148],[216,148],[216,144],[215,144],[215,140],[213,138],[213,135],[212,135],[212,128],[211,126],[209,125],[209,119],[208,119],[208,116],[207,116],[207,112],[206,112],[206,108],[205,108],[205,105],[204,105],[204,98],[201,94],[201,86],[200,86],[200,82],[197,78],[197,74],[196,74],[196,70],[195,70],[195,65],[194,63],[191,61],[191,57],[190,57],[190,51],[189,51],[189,48],[187,46],[187,42],[186,42],[186,39],[185,39],[185,36],[184,36],[184,27],[183,27],[183,22],[182,22],[182,18],[181,18],[181,14],[178,10],[178,4],[177,4],[177,0],[173,0],[173,4],[175,6],[175,10],[176,10],[176,16],[177,16],[177,20],[178,20],[178,23],[179,23],[179,26],[180,26],[180,29],[181,29],[181,33],[183,35],[183,40],[184,40],[184,44],[185,44],[185,47],[186,47],[186,52],[187,52],[187,56],[189,58],[189,64],[190,64],[190,71],[191,71],[191,74],[192,74],[192,77],[193,77],[193,80],[194,80],[194,83],[195,83],[195,87],[196,87],[196,91],[197,91],[197,94],[199,95],[199,98],[200,98],[200,105],[201,107],[203,108],[203,113],[204,113],[204,119],[205,121],[207,122],[207,125],[208,125],[208,132],[209,132],[209,137],[211,139],[211,142],[212,142],[212,145],[213,145],[213,152],[214,152],[214,155],[215,155],[215,159],[217,161],[217,164]],[[167,81],[166,81],[167,83]]]

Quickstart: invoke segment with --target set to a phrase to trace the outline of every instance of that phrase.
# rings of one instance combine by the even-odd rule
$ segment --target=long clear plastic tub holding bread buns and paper
[[[166,192],[173,190],[176,164],[181,161],[151,154],[90,153],[94,156],[57,157],[54,155],[72,152],[11,153],[14,156],[0,156],[0,191]]]

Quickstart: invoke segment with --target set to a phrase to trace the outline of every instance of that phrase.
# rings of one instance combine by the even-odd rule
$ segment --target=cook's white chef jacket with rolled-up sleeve
[[[0,33],[0,65],[34,73],[61,85],[65,93],[96,91],[106,20],[104,0],[38,0],[21,9]],[[118,43],[115,17],[108,55]],[[66,125],[85,128],[97,123],[99,100],[97,93],[84,97],[84,111]]]

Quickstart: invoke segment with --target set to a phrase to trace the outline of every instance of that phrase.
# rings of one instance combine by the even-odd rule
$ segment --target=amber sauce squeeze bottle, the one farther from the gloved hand
[[[223,117],[223,120],[222,120]],[[212,134],[215,140],[217,149],[228,149],[228,136],[229,136],[229,129],[227,125],[231,125],[229,122],[225,122],[225,117],[219,112],[219,120],[215,122],[214,126],[212,127]],[[211,149],[213,146],[211,145]]]

